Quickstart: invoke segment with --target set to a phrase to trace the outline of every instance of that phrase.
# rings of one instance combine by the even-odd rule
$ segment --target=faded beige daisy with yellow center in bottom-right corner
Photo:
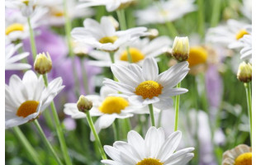
[[[251,165],[252,164],[252,148],[240,144],[233,149],[223,153],[222,165]]]

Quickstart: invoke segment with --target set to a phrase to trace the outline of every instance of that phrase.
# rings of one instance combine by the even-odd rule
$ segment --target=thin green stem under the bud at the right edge
[[[248,108],[248,116],[249,116],[249,125],[250,125],[250,140],[252,143],[252,95],[251,95],[251,87],[250,83],[244,83],[246,98],[247,98],[247,108]]]

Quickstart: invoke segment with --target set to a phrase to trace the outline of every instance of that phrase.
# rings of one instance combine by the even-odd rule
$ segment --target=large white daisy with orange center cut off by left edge
[[[38,118],[63,88],[62,78],[55,78],[45,87],[42,76],[37,78],[31,70],[22,80],[12,75],[9,86],[5,86],[5,128]]]

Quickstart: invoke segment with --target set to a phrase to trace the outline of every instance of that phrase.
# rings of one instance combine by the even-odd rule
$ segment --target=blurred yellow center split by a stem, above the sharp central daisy
[[[129,53],[130,53],[130,57],[131,57],[131,61],[132,63],[137,63],[139,62],[141,59],[144,59],[145,56],[144,54],[142,54],[140,52],[140,50],[136,49],[136,48],[130,48],[129,49]],[[128,61],[128,51],[125,50],[122,54],[121,54],[121,57],[120,59],[122,61]]]

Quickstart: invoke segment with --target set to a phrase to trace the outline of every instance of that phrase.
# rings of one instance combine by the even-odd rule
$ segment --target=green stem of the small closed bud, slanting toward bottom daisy
[[[93,125],[93,122],[92,122],[92,117],[90,115],[90,111],[87,111],[86,113],[86,116],[87,116],[87,120],[88,120],[88,124],[92,130],[92,134],[94,135],[94,138],[96,140],[96,143],[97,143],[97,147],[102,155],[102,159],[107,159],[107,156],[106,154],[104,153],[104,149],[102,147],[102,143],[101,143],[101,140],[99,139],[98,135],[97,135],[97,132],[95,130],[95,127]]]

